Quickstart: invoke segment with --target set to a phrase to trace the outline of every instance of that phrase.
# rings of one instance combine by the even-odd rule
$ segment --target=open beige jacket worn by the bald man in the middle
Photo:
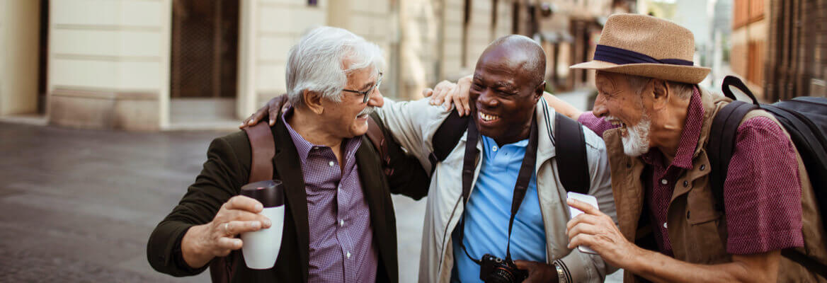
[[[547,238],[547,263],[561,259],[576,282],[603,282],[607,272],[614,271],[599,256],[568,249],[566,223],[569,209],[566,205],[566,190],[557,176],[555,147],[552,145],[554,110],[544,99],[537,104],[538,121],[537,191],[540,210],[543,215]],[[390,129],[401,146],[416,156],[430,170],[428,155],[433,151],[431,141],[437,128],[449,112],[442,106],[433,106],[426,99],[394,103],[385,100],[385,106],[378,108],[385,126]],[[584,127],[586,133],[586,156],[589,162],[591,188],[600,210],[615,218],[614,197],[609,180],[609,159],[603,140]],[[431,176],[428,204],[422,238],[422,254],[419,258],[420,282],[449,282],[454,266],[451,233],[462,214],[462,161],[465,155],[466,136],[461,137],[457,147],[445,161],[437,164]],[[482,143],[476,145],[482,151]],[[474,183],[480,173],[480,159],[477,159]],[[473,184],[472,184],[473,188]],[[510,202],[510,200],[509,200]],[[616,221],[616,220],[615,220]]]

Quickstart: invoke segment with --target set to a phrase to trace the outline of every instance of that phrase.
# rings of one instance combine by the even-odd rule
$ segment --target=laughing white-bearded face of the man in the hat
[[[594,114],[619,126],[626,155],[640,156],[651,146],[649,134],[652,119],[647,114],[641,95],[649,86],[646,83],[633,87],[625,78],[622,74],[597,72],[595,86],[598,95]],[[638,93],[638,87],[643,88],[641,93]]]

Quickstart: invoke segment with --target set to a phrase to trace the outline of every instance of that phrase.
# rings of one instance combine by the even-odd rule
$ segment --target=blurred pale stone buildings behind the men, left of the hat
[[[547,49],[550,89],[590,85],[624,0],[0,0],[0,117],[98,129],[233,127],[284,93],[289,47],[340,26],[383,50],[383,94],[418,98],[471,74],[495,38]]]

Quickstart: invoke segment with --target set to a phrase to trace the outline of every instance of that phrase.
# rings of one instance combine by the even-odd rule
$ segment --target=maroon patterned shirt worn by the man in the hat
[[[686,113],[686,124],[672,163],[665,164],[657,148],[641,156],[648,164],[644,176],[646,201],[650,209],[657,247],[672,256],[667,233],[667,209],[675,181],[692,169],[703,124],[704,108],[695,89]],[[614,126],[594,113],[578,119],[592,131]],[[727,252],[753,254],[804,246],[801,235],[801,180],[792,142],[777,123],[764,117],[751,118],[738,128],[735,149],[724,180],[724,207],[727,221]],[[646,180],[646,179],[644,179]]]

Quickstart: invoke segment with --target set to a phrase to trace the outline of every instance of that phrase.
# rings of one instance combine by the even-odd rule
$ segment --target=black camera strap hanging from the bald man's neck
[[[471,183],[474,180],[474,171],[476,170],[476,158],[479,153],[476,150],[476,143],[480,137],[479,130],[476,128],[476,119],[468,119],[468,132],[466,138],[466,151],[464,162],[462,164],[462,215],[460,218],[460,247],[465,252],[466,256],[471,261],[480,264],[480,260],[471,257],[466,250],[465,244],[462,243],[465,237],[465,213],[468,199],[471,197]],[[520,204],[523,203],[523,198],[528,191],[528,183],[531,181],[531,175],[534,173],[534,165],[537,161],[537,143],[538,143],[538,128],[537,121],[532,118],[531,130],[528,135],[528,146],[525,148],[525,155],[523,156],[523,164],[520,165],[519,173],[517,175],[517,183],[514,184],[514,196],[511,199],[511,217],[509,218],[509,236],[508,243],[505,246],[505,261],[511,262],[511,228],[514,226],[514,217],[517,215]]]

